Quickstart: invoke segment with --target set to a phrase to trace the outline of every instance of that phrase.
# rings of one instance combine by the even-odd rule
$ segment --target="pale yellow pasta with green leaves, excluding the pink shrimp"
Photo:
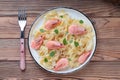
[[[69,14],[63,10],[59,13],[55,10],[50,11],[44,18],[45,21],[43,25],[40,26],[40,29],[34,34],[35,39],[41,35],[44,36],[40,47],[36,49],[40,56],[40,64],[46,69],[54,70],[56,64],[58,64],[57,62],[60,62],[59,60],[61,58],[65,58],[68,60],[68,64],[66,64],[67,67],[60,70],[80,66],[82,63],[79,63],[79,57],[85,52],[89,52],[93,49],[94,32],[92,27],[86,25],[83,20],[71,18]],[[52,29],[48,27],[45,28],[46,23],[49,23],[47,21],[51,19],[58,19],[60,21],[59,25],[54,23]],[[72,34],[72,32],[70,33],[69,27],[73,24],[82,26],[82,28],[85,29],[85,33],[81,33],[81,35],[75,35],[75,33]],[[60,47],[59,49],[55,47],[55,49],[49,49],[50,45],[48,45],[48,47],[46,46],[46,43],[49,41],[51,41],[51,43],[52,41],[58,41],[63,47]]]

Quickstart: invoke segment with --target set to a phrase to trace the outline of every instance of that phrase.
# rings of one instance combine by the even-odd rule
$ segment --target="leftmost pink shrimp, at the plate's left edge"
[[[44,40],[44,36],[40,36],[37,39],[33,40],[31,43],[31,47],[33,49],[39,49],[43,43]]]

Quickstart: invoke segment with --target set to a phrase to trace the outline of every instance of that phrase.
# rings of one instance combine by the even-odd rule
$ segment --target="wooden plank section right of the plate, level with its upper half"
[[[93,18],[97,38],[120,38],[120,18]]]

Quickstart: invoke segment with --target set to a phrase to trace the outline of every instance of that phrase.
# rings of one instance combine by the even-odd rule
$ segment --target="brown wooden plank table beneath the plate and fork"
[[[26,43],[27,69],[21,72],[17,10],[23,6],[28,13],[26,41],[35,18],[49,8],[73,7],[89,16],[97,31],[97,49],[91,62],[71,74],[52,74],[33,61]],[[120,6],[103,0],[0,0],[0,79],[120,80]]]

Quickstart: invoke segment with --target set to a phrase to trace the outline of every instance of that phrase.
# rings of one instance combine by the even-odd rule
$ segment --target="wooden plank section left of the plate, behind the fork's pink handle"
[[[20,59],[20,40],[19,39],[0,39],[0,60],[19,60]],[[32,60],[28,51],[26,40],[26,60]]]

